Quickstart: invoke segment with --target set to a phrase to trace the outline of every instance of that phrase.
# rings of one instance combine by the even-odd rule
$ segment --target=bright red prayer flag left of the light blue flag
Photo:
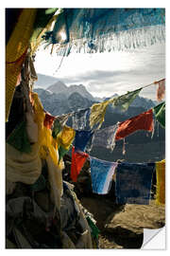
[[[74,182],[77,180],[77,175],[80,173],[86,159],[89,157],[84,152],[75,152],[75,147],[72,148],[72,166],[71,166],[71,178]]]

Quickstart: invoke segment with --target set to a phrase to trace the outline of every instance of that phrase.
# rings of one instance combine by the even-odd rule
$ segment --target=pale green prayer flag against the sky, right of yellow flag
[[[127,92],[127,94],[113,98],[110,100],[110,103],[114,107],[119,107],[122,111],[127,111],[127,108],[135,100],[135,98],[139,95],[143,88],[137,89],[132,92]]]

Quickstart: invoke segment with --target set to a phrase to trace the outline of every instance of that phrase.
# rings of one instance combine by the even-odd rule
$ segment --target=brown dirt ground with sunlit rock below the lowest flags
[[[100,229],[99,248],[140,248],[144,229],[159,229],[165,223],[165,209],[155,205],[116,205],[111,199],[82,197],[81,204],[90,212]]]

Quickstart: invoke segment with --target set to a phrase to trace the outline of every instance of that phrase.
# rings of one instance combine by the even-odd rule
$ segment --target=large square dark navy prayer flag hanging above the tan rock
[[[118,204],[148,205],[155,163],[119,163],[115,194]]]

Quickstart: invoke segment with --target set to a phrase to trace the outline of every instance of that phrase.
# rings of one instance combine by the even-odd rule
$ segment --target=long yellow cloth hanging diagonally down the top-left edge
[[[6,47],[6,121],[18,75],[26,57],[37,9],[23,9]]]

